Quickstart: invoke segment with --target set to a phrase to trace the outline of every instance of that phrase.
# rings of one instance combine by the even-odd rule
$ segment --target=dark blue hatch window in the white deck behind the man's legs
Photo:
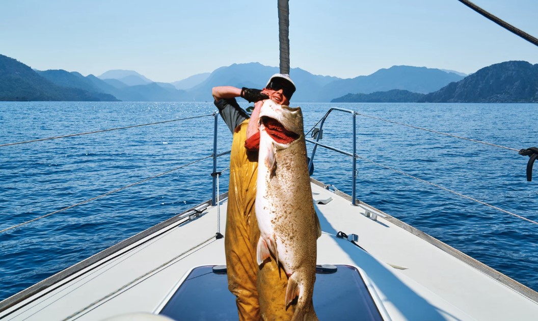
[[[215,273],[213,267],[193,269],[160,314],[175,320],[237,320],[235,296],[228,290],[225,269]],[[313,300],[320,320],[383,320],[363,278],[352,266],[338,265],[336,272],[318,268]]]

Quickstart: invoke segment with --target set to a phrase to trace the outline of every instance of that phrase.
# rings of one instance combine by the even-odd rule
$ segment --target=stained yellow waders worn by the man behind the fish
[[[256,247],[260,237],[254,201],[258,153],[245,149],[249,120],[237,126],[230,155],[230,187],[224,244],[228,288],[237,299],[239,320],[289,320],[295,306],[285,306],[288,278],[275,260],[258,267]]]

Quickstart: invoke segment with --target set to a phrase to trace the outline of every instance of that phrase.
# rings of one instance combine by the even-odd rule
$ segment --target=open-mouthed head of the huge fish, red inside
[[[280,147],[304,135],[301,108],[279,105],[271,99],[261,106],[258,125],[260,132],[265,131]]]

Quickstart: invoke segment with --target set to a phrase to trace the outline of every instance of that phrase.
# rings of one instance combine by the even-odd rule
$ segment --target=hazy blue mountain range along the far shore
[[[504,62],[466,77],[451,70],[393,66],[353,79],[292,68],[297,86],[292,102],[538,102],[536,66]],[[0,55],[0,101],[213,101],[211,88],[217,85],[261,89],[278,71],[257,62],[241,63],[161,83],[133,70],[109,70],[98,77],[32,70]]]

